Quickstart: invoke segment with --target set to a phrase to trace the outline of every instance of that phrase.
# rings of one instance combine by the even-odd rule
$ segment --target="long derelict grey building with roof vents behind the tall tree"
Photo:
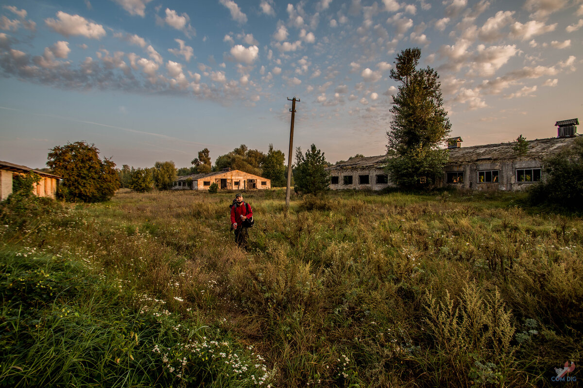
[[[544,179],[543,160],[573,146],[578,119],[555,123],[557,137],[528,140],[524,152],[514,143],[462,147],[461,137],[447,141],[449,163],[439,186],[452,185],[473,190],[522,190]],[[326,168],[330,188],[382,190],[393,186],[384,169],[387,155],[353,158]]]

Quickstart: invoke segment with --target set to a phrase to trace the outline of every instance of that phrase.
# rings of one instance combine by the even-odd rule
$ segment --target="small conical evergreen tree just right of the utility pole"
[[[296,167],[292,170],[296,183],[294,191],[301,194],[319,194],[328,191],[328,173],[325,168],[328,162],[324,152],[311,145],[310,151],[301,153],[301,148],[296,149]]]

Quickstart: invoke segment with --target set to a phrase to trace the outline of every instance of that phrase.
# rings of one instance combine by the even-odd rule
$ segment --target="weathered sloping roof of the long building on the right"
[[[512,160],[541,160],[552,156],[562,149],[573,147],[575,137],[551,137],[528,141],[528,151],[525,155],[519,155],[512,147],[517,142],[497,143],[486,145],[473,145],[472,147],[449,148],[449,165],[477,162],[498,162]],[[387,155],[366,156],[353,158],[349,161],[338,163],[326,168],[328,171],[337,169],[366,169],[383,168]]]

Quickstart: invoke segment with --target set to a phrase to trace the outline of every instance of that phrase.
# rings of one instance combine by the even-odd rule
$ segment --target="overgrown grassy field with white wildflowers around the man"
[[[554,386],[580,364],[581,218],[512,193],[286,211],[285,191],[249,192],[243,251],[232,197],[4,205],[0,385]]]

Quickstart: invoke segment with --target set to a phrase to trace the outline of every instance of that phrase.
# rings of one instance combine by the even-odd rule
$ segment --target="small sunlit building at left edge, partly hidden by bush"
[[[36,173],[40,176],[40,181],[33,184],[33,194],[38,195],[38,197],[55,198],[59,180],[61,179],[60,176],[33,170],[27,166],[0,161],[0,201],[5,200],[12,194],[13,177],[29,172]]]

